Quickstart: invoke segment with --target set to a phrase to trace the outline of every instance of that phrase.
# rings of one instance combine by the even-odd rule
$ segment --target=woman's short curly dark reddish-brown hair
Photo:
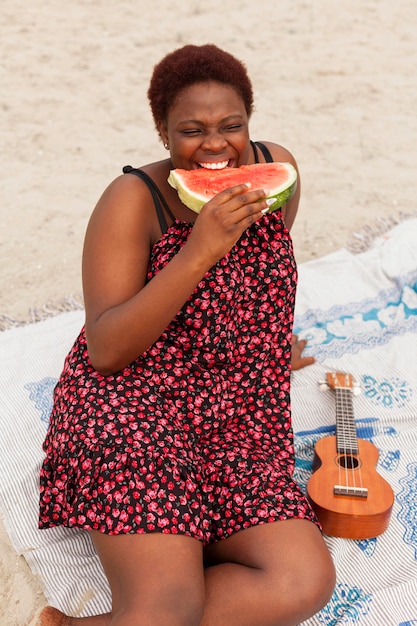
[[[167,54],[154,68],[148,98],[156,127],[166,122],[180,91],[209,80],[233,87],[242,97],[248,117],[251,116],[253,90],[244,64],[214,44],[188,44]]]

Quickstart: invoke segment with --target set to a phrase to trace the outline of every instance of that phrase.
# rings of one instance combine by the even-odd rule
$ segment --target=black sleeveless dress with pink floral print
[[[148,280],[184,245],[175,221]],[[40,476],[40,528],[181,533],[208,544],[249,526],[316,521],[292,475],[296,266],[264,216],[122,371],[102,376],[84,329],[65,361]]]

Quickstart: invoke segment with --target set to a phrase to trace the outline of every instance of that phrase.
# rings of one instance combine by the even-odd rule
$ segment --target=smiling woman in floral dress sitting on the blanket
[[[334,586],[292,479],[299,189],[265,214],[268,190],[239,185],[197,217],[167,183],[172,168],[296,163],[250,141],[250,81],[216,46],[166,56],[148,96],[170,157],[125,168],[93,212],[85,330],[55,390],[41,470],[40,527],[91,533],[112,612],[48,607],[41,623],[298,624]]]

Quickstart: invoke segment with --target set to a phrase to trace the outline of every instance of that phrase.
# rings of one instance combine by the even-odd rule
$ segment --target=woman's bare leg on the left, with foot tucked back
[[[37,626],[199,626],[202,544],[181,535],[92,533],[112,592],[112,613],[71,618],[46,607]]]

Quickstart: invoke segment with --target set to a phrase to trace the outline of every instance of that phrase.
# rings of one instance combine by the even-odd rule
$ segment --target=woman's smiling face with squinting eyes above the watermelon
[[[160,133],[174,168],[222,169],[248,163],[248,115],[240,95],[214,81],[183,89]]]

